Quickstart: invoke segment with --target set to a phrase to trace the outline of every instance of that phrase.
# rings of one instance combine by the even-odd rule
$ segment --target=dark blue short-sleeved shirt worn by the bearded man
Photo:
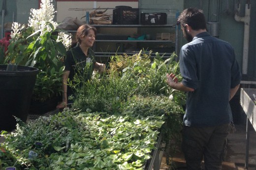
[[[241,72],[232,46],[208,32],[196,35],[180,52],[182,84],[187,92],[184,124],[218,126],[232,121],[229,91],[240,84]]]

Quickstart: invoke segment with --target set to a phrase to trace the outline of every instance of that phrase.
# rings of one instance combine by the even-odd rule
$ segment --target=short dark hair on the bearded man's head
[[[188,24],[192,29],[207,29],[206,20],[203,11],[197,8],[187,8],[178,17],[178,24],[181,24],[184,28]]]

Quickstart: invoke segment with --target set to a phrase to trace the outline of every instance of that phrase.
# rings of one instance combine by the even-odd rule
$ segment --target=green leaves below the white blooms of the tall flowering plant
[[[15,63],[39,69],[32,100],[45,101],[62,92],[63,60],[66,48],[57,42],[54,28],[45,33],[33,32],[32,27],[21,27],[20,34],[10,39],[5,63]],[[56,30],[58,31],[58,30]]]

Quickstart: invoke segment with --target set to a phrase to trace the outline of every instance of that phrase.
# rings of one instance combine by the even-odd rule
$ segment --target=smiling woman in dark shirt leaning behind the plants
[[[95,60],[94,51],[91,49],[95,42],[96,28],[90,25],[82,25],[76,32],[76,46],[66,52],[65,68],[63,74],[63,94],[62,103],[57,106],[58,109],[67,107],[68,97],[74,94],[67,80],[72,81],[75,75],[83,75],[85,81],[90,80],[94,70],[102,73],[105,70],[105,64],[98,63]]]

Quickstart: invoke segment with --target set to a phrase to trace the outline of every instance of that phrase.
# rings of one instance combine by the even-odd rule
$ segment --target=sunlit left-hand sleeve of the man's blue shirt
[[[180,72],[183,77],[183,85],[193,89],[198,88],[199,81],[197,77],[195,57],[187,46],[183,46],[180,52]]]

